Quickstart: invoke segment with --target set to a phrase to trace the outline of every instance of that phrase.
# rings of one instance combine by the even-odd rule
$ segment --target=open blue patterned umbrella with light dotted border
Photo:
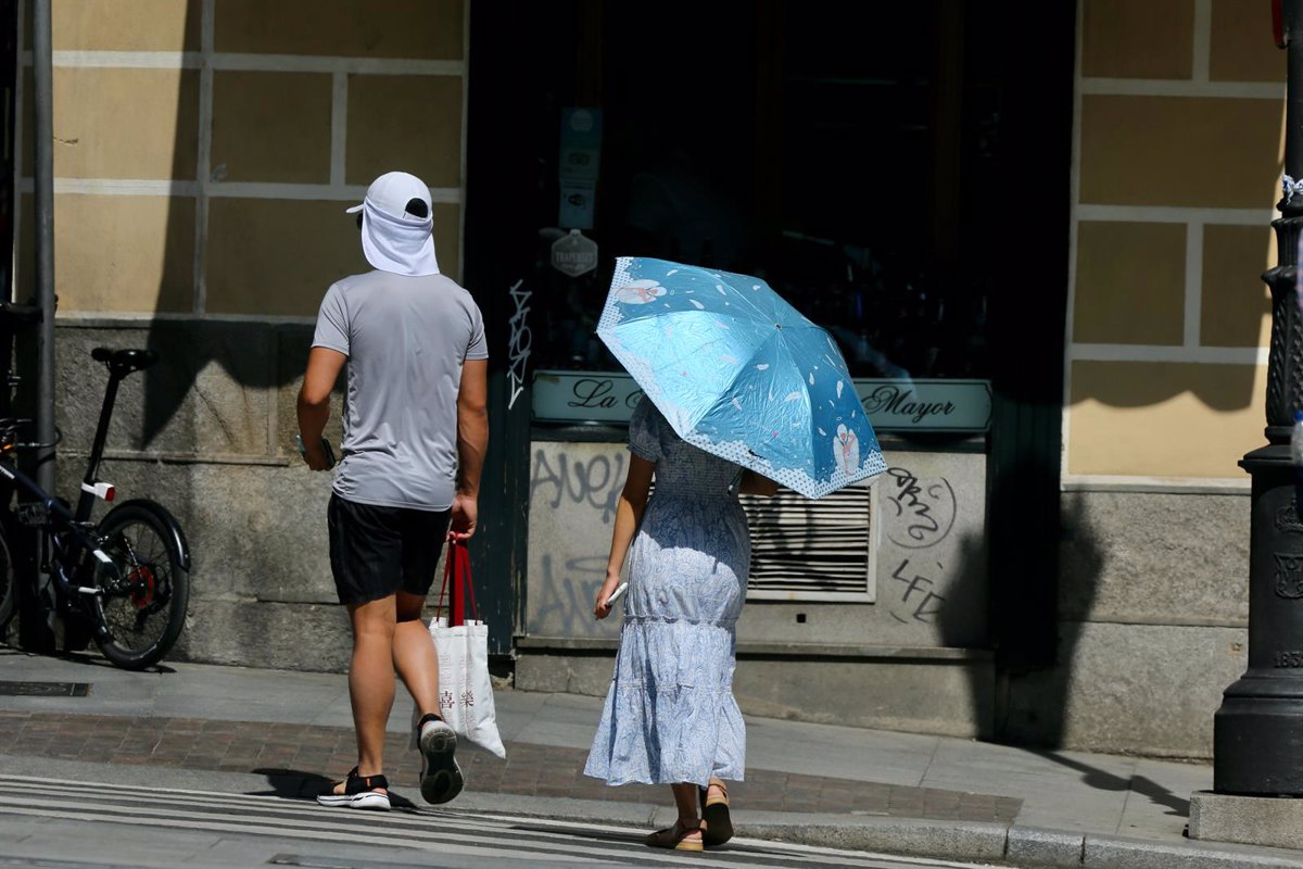
[[[833,337],[760,279],[622,257],[597,334],[706,452],[808,498],[886,470]]]

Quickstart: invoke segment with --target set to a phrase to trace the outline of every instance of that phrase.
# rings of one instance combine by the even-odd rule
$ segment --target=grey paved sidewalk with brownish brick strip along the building
[[[466,790],[448,808],[668,826],[666,788],[582,775],[599,707],[498,691],[507,760],[459,750]],[[386,747],[397,804],[417,784],[409,722],[400,687]],[[741,836],[1024,868],[1303,869],[1303,852],[1184,838],[1190,795],[1212,787],[1208,765],[766,718],[747,719],[747,780],[730,787]],[[9,774],[310,797],[354,760],[339,674],[125,672],[0,649]]]

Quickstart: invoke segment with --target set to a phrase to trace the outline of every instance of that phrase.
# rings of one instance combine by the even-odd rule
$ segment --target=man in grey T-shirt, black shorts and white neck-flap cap
[[[439,668],[421,608],[450,522],[457,539],[476,530],[489,442],[483,321],[470,294],[439,274],[430,190],[420,178],[382,175],[348,211],[360,212],[375,271],[326,292],[298,393],[304,460],[326,470],[322,431],[348,362],[328,525],[331,572],[353,628],[357,766],[317,801],[390,808],[383,752],[396,671],[421,713],[421,796],[447,803],[463,786],[457,737],[438,715]]]

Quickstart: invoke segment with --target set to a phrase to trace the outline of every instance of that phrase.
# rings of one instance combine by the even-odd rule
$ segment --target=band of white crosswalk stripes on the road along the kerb
[[[146,809],[142,812],[142,809]],[[306,800],[182,788],[142,788],[66,779],[0,775],[0,813],[69,821],[270,835],[311,842],[408,847],[421,851],[520,859],[564,857],[575,864],[687,865],[700,855],[649,849],[628,827],[453,809],[361,812]],[[747,866],[928,866],[968,864],[734,839],[711,860]]]

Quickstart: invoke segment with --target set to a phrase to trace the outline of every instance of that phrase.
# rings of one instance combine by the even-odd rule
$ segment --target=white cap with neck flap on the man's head
[[[345,211],[362,212],[362,253],[373,267],[397,275],[439,274],[430,188],[421,178],[386,172],[366,189],[361,205]]]

